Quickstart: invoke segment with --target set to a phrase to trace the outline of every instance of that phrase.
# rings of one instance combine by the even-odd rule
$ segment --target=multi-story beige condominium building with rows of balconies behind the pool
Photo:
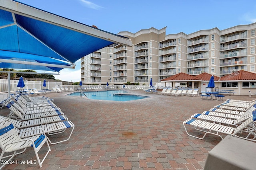
[[[149,84],[184,72],[219,77],[236,70],[255,70],[256,23],[224,30],[217,27],[191,34],[166,35],[166,27],[122,31],[132,47],[114,44],[81,59],[85,84]]]

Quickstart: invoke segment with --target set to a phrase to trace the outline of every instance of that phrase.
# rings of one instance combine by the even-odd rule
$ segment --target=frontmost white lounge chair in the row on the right
[[[223,139],[221,134],[225,134],[225,135],[232,135],[235,137],[246,139],[249,141],[256,141],[254,121],[256,121],[256,114],[254,114],[252,117],[249,117],[246,121],[244,121],[241,125],[239,125],[236,128],[220,125],[219,123],[206,122],[206,121],[191,119],[191,118],[184,121],[183,125],[188,136],[195,137],[198,139],[204,139],[204,137],[209,133],[209,134],[217,135],[221,139]],[[204,133],[203,137],[198,137],[196,135],[189,134],[188,130],[186,129],[186,125],[190,125],[194,127],[194,129],[203,132]],[[238,133],[241,133],[241,132],[246,133],[246,135],[245,136],[238,135]]]

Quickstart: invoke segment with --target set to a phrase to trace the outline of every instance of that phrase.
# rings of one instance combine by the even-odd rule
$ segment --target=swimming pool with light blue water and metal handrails
[[[118,94],[119,90],[106,90],[106,91],[94,91],[94,92],[83,92],[86,94],[88,99],[93,100],[112,100],[112,101],[130,101],[130,100],[139,100],[144,98],[149,98],[147,96],[140,96],[135,94],[129,94],[129,92],[123,91],[123,94]],[[68,94],[68,96],[80,96],[80,92],[74,92]],[[82,95],[83,96],[83,95]]]

